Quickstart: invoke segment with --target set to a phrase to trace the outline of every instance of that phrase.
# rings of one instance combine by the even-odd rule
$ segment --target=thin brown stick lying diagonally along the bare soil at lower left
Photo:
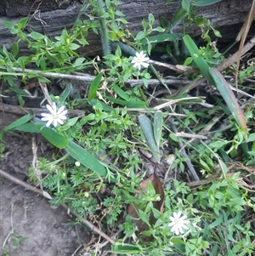
[[[15,178],[13,175],[10,175],[8,173],[6,173],[5,171],[3,171],[2,169],[0,169],[0,175],[2,175],[4,178],[10,180],[11,182],[15,183],[15,184],[18,184],[18,185],[21,185],[23,187],[25,187],[28,191],[32,191],[32,192],[35,192],[39,195],[42,195],[42,191],[38,190],[37,188],[35,188],[34,186],[30,185],[30,184],[27,184],[26,182],[20,180],[20,179],[17,179]],[[61,204],[61,206],[65,209],[69,209],[65,204]],[[73,211],[70,211],[71,214],[73,214],[74,216],[78,216],[77,213],[73,212]],[[115,241],[113,239],[111,239],[110,236],[107,236],[104,232],[102,232],[101,230],[99,230],[96,226],[94,226],[93,224],[91,224],[87,219],[82,219],[82,222],[85,224],[85,225],[88,225],[88,227],[93,230],[95,233],[98,233],[99,236],[102,236],[105,238],[105,240],[111,242],[111,243],[115,243]]]

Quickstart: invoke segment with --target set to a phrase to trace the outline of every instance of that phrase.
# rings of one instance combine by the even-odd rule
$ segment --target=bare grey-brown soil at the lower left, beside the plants
[[[0,113],[0,128],[19,118]],[[54,147],[37,137],[38,156],[50,157]],[[31,134],[5,134],[1,169],[28,179],[32,162]],[[76,225],[64,208],[52,208],[45,197],[0,176],[0,255],[77,256],[90,241],[86,227]]]

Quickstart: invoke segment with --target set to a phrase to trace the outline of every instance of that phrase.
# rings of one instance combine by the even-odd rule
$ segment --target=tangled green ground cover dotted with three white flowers
[[[35,151],[29,176],[52,205],[111,238],[81,255],[252,255],[254,60],[241,60],[235,87],[236,57],[218,49],[219,31],[193,11],[202,1],[183,0],[161,26],[149,14],[136,35],[119,4],[84,3],[81,13],[94,19],[78,17],[54,39],[25,33],[27,18],[5,22],[18,40],[0,48],[2,93],[22,107],[43,97],[41,111],[2,138],[42,134],[59,149],[52,159]],[[201,37],[173,33],[178,22],[199,26]],[[79,49],[91,31],[104,53],[88,58]],[[21,41],[30,55],[19,54]]]

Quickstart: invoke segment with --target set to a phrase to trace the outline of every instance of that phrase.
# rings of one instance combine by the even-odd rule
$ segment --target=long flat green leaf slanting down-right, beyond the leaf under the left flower
[[[93,170],[100,176],[106,177],[107,170],[105,166],[99,162],[99,160],[94,155],[90,154],[80,145],[77,145],[71,139],[68,140],[65,151],[67,151],[73,158],[75,158],[78,162],[81,162],[87,168]]]

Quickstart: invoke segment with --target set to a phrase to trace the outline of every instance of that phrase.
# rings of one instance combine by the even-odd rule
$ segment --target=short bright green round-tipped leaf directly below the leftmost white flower
[[[59,149],[64,149],[67,146],[67,138],[61,134],[58,134],[54,129],[43,127],[41,134],[47,139],[52,145]]]

